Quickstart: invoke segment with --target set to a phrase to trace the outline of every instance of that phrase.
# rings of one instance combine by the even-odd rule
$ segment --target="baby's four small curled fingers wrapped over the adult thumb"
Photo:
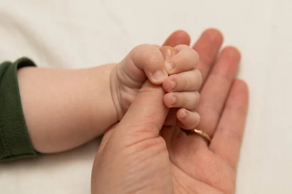
[[[200,99],[197,90],[202,82],[201,72],[195,69],[199,55],[186,45],[160,48],[163,54],[166,49],[173,54],[164,63],[169,76],[162,84],[167,92],[163,100],[165,106],[171,108],[164,125],[193,129],[200,121],[200,115],[195,112]]]

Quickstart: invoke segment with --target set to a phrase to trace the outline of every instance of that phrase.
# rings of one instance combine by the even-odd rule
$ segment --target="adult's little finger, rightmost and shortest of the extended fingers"
[[[234,82],[224,111],[210,144],[210,150],[218,154],[236,170],[239,149],[248,109],[248,88],[244,81]]]

